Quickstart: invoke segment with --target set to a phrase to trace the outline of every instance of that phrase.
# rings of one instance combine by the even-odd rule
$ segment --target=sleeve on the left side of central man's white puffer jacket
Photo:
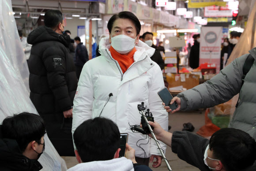
[[[74,98],[72,135],[81,123],[91,119],[94,91],[90,77],[90,68],[86,63],[83,66]],[[75,143],[74,148],[76,149]]]

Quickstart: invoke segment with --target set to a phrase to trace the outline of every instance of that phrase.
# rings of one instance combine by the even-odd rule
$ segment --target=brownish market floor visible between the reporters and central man
[[[176,112],[174,114],[169,114],[169,125],[172,126],[170,132],[182,130],[183,123],[188,122],[192,123],[192,125],[195,127],[193,133],[196,134],[197,130],[204,125],[204,111]],[[68,168],[78,164],[75,157],[62,156],[62,158],[66,161]],[[168,159],[173,171],[199,171],[199,169],[196,167],[187,164],[183,160],[180,160],[178,156],[171,151],[170,147],[167,147],[166,158]],[[150,167],[153,171],[167,171],[167,166],[164,160],[162,160],[162,165],[160,167],[153,168],[152,164],[150,164]]]

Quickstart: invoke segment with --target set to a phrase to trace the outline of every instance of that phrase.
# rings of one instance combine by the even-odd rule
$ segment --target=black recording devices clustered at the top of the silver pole
[[[144,107],[144,102],[141,102],[141,104],[138,104],[138,110],[141,115],[142,115],[141,111],[145,112],[146,108],[147,108],[147,106]],[[147,109],[147,112],[145,112],[145,116],[148,121],[154,122],[154,117],[153,117],[152,113],[150,112],[150,109]],[[131,126],[131,130],[138,131],[141,134],[150,134],[151,132],[147,126],[144,116],[142,115],[140,118],[141,118],[140,122],[141,122],[142,128],[140,126]],[[153,126],[151,126],[151,128],[152,128],[152,130],[154,129]]]

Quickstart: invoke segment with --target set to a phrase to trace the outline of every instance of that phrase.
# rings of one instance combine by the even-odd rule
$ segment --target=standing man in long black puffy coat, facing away
[[[70,37],[62,34],[64,21],[59,10],[46,11],[44,22],[45,26],[39,26],[27,37],[32,44],[28,63],[30,99],[45,120],[48,136],[60,156],[71,156],[77,78],[68,50]]]

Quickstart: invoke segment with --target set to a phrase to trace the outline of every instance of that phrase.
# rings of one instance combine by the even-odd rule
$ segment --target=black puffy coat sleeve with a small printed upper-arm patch
[[[67,53],[65,53],[67,52]],[[43,53],[43,63],[47,72],[47,80],[53,95],[62,111],[72,108],[66,82],[66,49],[49,47]]]

